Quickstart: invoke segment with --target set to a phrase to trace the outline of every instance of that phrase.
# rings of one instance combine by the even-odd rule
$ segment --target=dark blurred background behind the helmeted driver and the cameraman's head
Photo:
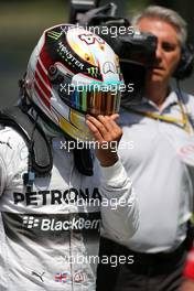
[[[100,4],[110,1],[101,0]],[[176,10],[188,23],[194,44],[193,0],[112,0],[118,15],[131,18],[149,4]],[[30,54],[45,28],[68,22],[71,0],[0,0],[0,108],[17,103],[18,80],[22,78]],[[193,76],[182,88],[194,95]]]

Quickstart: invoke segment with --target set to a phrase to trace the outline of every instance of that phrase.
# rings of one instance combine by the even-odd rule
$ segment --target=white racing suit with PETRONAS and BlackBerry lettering
[[[52,174],[28,192],[24,140],[0,130],[0,291],[95,291],[99,228],[126,244],[137,229],[137,202],[120,161],[109,168],[95,161],[94,175],[84,176],[62,142],[52,140]]]

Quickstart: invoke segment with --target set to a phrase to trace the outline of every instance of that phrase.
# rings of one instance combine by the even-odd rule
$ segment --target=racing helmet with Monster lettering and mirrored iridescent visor
[[[118,112],[123,78],[118,56],[100,36],[58,24],[43,32],[24,84],[41,112],[71,138],[89,141],[86,115]]]

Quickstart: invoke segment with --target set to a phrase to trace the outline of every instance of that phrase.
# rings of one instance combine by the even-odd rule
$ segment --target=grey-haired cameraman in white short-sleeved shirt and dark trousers
[[[193,211],[194,99],[170,85],[171,77],[180,74],[186,23],[173,10],[148,7],[133,24],[158,37],[143,99],[136,105],[129,99],[120,114],[122,144],[130,139],[134,146],[119,154],[134,183],[140,225],[125,247],[101,238],[100,256],[133,255],[134,262],[115,270],[99,265],[97,290],[172,291],[181,284],[192,240],[187,223]]]

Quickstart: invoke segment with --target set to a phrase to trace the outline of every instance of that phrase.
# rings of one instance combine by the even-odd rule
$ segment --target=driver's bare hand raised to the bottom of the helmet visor
[[[118,161],[117,148],[122,136],[122,130],[115,122],[119,115],[86,116],[86,123],[98,142],[96,155],[103,166],[114,165]]]

